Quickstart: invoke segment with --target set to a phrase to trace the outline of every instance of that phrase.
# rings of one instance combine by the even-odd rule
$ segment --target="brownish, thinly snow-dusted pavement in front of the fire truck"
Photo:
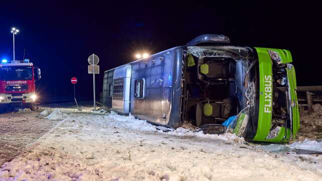
[[[60,120],[48,120],[30,109],[0,114],[0,167],[37,141]]]

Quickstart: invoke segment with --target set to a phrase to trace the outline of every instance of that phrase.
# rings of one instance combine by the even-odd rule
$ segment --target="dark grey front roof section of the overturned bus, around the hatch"
[[[173,55],[158,53],[132,63],[131,113],[138,118],[166,125],[172,92]],[[144,97],[135,97],[135,81],[144,80]]]

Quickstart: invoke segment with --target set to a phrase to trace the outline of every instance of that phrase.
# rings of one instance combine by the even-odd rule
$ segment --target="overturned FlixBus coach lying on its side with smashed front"
[[[290,51],[229,43],[225,35],[203,34],[105,71],[104,108],[173,128],[227,128],[247,140],[294,138],[299,112]],[[234,115],[233,125],[222,125]]]

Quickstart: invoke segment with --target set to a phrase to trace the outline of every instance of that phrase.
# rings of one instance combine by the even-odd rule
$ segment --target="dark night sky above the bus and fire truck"
[[[92,98],[87,57],[100,57],[97,92],[103,71],[133,60],[136,51],[149,53],[184,45],[203,33],[228,35],[232,44],[289,49],[298,85],[321,85],[320,4],[258,1],[59,1],[1,2],[0,58],[12,59],[10,28],[18,27],[16,59],[26,57],[41,67],[38,88],[46,97],[73,93]],[[297,3],[297,4],[296,4]]]

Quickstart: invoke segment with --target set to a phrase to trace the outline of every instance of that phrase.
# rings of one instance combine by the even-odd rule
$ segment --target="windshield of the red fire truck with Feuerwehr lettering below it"
[[[31,80],[32,78],[33,78],[32,66],[0,67],[0,80]]]

